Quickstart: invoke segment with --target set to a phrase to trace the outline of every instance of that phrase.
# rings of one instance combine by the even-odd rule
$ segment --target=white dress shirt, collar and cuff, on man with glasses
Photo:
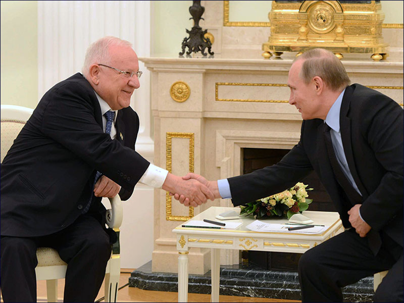
[[[107,118],[104,116],[104,114],[107,113],[108,111],[113,110],[111,110],[108,103],[105,102],[105,100],[102,99],[96,92],[95,95],[97,96],[99,107],[101,108],[101,114],[103,116],[103,130],[105,132],[105,128],[107,125]],[[115,122],[117,120],[118,111],[113,112],[115,112],[115,118],[114,123],[112,124],[111,127],[111,139],[115,139],[117,136],[117,129],[115,128]],[[140,178],[139,182],[151,187],[161,188],[163,186],[164,181],[166,180],[167,174],[168,174],[167,170],[150,163],[150,165],[144,172],[143,176]]]

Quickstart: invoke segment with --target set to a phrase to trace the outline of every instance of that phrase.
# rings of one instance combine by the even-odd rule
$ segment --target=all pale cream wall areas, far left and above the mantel
[[[233,2],[233,8],[235,3],[238,3],[237,11],[242,12],[239,16],[258,16],[257,5],[265,2],[248,2],[249,5],[242,7],[247,1],[238,1]],[[385,23],[403,23],[402,4],[403,1],[382,1]],[[191,5],[191,1],[152,1],[151,56],[178,55],[182,39],[188,36],[185,29],[193,25],[188,11]],[[1,104],[35,108],[38,103],[37,1],[2,1],[0,28]]]

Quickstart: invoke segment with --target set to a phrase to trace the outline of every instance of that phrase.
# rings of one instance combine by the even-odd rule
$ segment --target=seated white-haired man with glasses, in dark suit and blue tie
[[[82,73],[44,94],[1,165],[5,302],[36,301],[39,246],[55,248],[68,264],[64,301],[94,301],[116,241],[105,228],[102,197],[126,200],[140,181],[182,194],[192,206],[213,200],[205,185],[134,150],[139,118],[129,105],[142,73],[128,41],[91,44]]]

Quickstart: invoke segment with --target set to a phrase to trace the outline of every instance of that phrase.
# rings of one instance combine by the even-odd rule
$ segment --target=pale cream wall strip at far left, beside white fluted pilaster
[[[1,3],[1,104],[35,108],[38,100],[37,2]]]

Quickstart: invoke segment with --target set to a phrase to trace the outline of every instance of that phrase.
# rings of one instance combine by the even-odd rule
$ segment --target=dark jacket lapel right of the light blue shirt
[[[369,193],[365,189],[361,179],[359,178],[358,171],[354,160],[354,151],[352,150],[352,139],[351,139],[351,119],[348,117],[350,100],[352,95],[352,88],[348,86],[345,89],[344,96],[342,98],[341,111],[339,115],[339,127],[341,132],[342,146],[344,148],[344,154],[346,162],[352,177],[355,180],[362,196],[366,198]]]

